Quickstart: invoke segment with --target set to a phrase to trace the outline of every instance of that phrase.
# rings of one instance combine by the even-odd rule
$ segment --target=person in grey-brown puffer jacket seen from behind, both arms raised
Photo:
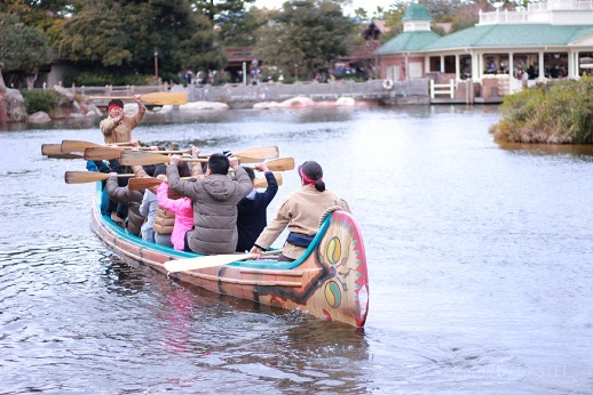
[[[193,202],[194,229],[186,234],[187,246],[202,254],[233,253],[237,246],[237,203],[246,197],[253,185],[237,158],[215,153],[208,159],[205,178],[181,181],[177,156],[167,166],[169,188]],[[228,177],[228,168],[235,179]]]

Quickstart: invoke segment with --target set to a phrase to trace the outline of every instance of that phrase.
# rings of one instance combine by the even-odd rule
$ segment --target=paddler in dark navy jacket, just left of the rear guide
[[[245,252],[253,246],[262,230],[267,225],[266,209],[278,192],[278,182],[274,174],[267,168],[265,163],[256,165],[259,171],[265,172],[267,188],[264,192],[253,190],[247,197],[241,199],[237,204],[237,251]],[[251,182],[256,178],[253,169],[244,167]]]

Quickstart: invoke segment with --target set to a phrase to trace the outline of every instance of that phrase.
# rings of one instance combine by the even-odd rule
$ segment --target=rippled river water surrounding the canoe
[[[498,107],[147,117],[134,137],[313,159],[365,239],[364,330],[133,268],[90,230],[96,124],[0,133],[0,393],[593,393],[593,154],[500,147]],[[283,177],[279,198],[298,187]]]

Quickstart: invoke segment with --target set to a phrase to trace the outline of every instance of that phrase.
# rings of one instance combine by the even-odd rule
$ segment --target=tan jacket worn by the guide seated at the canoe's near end
[[[327,190],[319,192],[313,185],[305,185],[300,191],[292,192],[278,203],[276,215],[257,238],[256,245],[265,249],[270,248],[286,226],[290,232],[307,236],[316,235],[321,214],[326,208],[334,205],[342,207],[348,213],[352,212],[348,203],[334,192]],[[283,255],[298,259],[305,249],[286,243]]]

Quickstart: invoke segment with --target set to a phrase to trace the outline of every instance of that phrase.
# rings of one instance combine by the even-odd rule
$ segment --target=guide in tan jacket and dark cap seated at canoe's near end
[[[261,254],[288,226],[290,231],[279,261],[294,261],[305,252],[319,230],[321,214],[330,207],[339,206],[351,213],[350,206],[334,192],[326,190],[323,170],[313,160],[298,168],[302,188],[292,192],[278,203],[275,217],[257,238],[251,253]]]

